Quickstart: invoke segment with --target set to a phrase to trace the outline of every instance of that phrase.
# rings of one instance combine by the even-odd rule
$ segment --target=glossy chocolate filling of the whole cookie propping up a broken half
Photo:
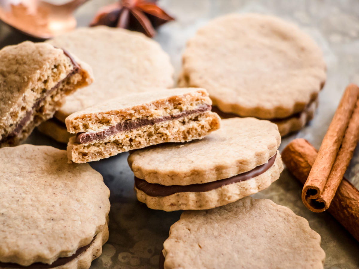
[[[255,178],[266,172],[274,164],[277,153],[271,157],[266,164],[259,165],[251,171],[241,173],[230,178],[220,179],[203,184],[191,184],[191,185],[161,185],[155,183],[148,183],[146,180],[139,179],[135,176],[136,188],[143,191],[145,194],[152,197],[165,197],[179,192],[208,192],[225,185],[245,181],[251,178]]]

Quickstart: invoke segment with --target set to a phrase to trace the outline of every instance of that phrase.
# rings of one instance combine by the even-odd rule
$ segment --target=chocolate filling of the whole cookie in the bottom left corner
[[[70,257],[61,257],[59,259],[57,259],[56,261],[54,261],[52,264],[46,264],[46,263],[33,263],[30,264],[28,266],[22,266],[19,265],[17,263],[1,263],[0,262],[0,267],[3,268],[19,268],[19,269],[50,269],[50,268],[55,268],[57,266],[60,265],[64,265],[66,263],[69,263],[70,261],[76,259],[79,255],[81,255],[82,253],[84,253],[93,243],[93,241],[95,241],[96,239],[96,235],[93,237],[92,241],[90,242],[90,244],[80,247],[78,250],[76,250],[75,254],[73,254]]]

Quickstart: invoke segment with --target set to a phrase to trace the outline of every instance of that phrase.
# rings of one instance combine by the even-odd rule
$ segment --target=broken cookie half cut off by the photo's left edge
[[[0,147],[15,146],[52,118],[65,95],[92,83],[92,70],[68,52],[26,41],[0,51]]]

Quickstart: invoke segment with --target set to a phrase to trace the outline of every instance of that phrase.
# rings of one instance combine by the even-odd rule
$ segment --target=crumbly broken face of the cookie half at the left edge
[[[82,85],[81,71],[70,58],[61,57],[37,81],[29,84],[25,94],[9,115],[0,147],[16,146],[32,132],[34,127],[51,118],[64,104],[65,95]]]

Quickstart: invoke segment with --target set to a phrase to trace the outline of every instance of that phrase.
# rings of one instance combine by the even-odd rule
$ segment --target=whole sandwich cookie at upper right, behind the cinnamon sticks
[[[223,118],[268,119],[284,136],[311,120],[325,80],[320,47],[296,25],[230,14],[187,42],[178,85],[207,89]]]

